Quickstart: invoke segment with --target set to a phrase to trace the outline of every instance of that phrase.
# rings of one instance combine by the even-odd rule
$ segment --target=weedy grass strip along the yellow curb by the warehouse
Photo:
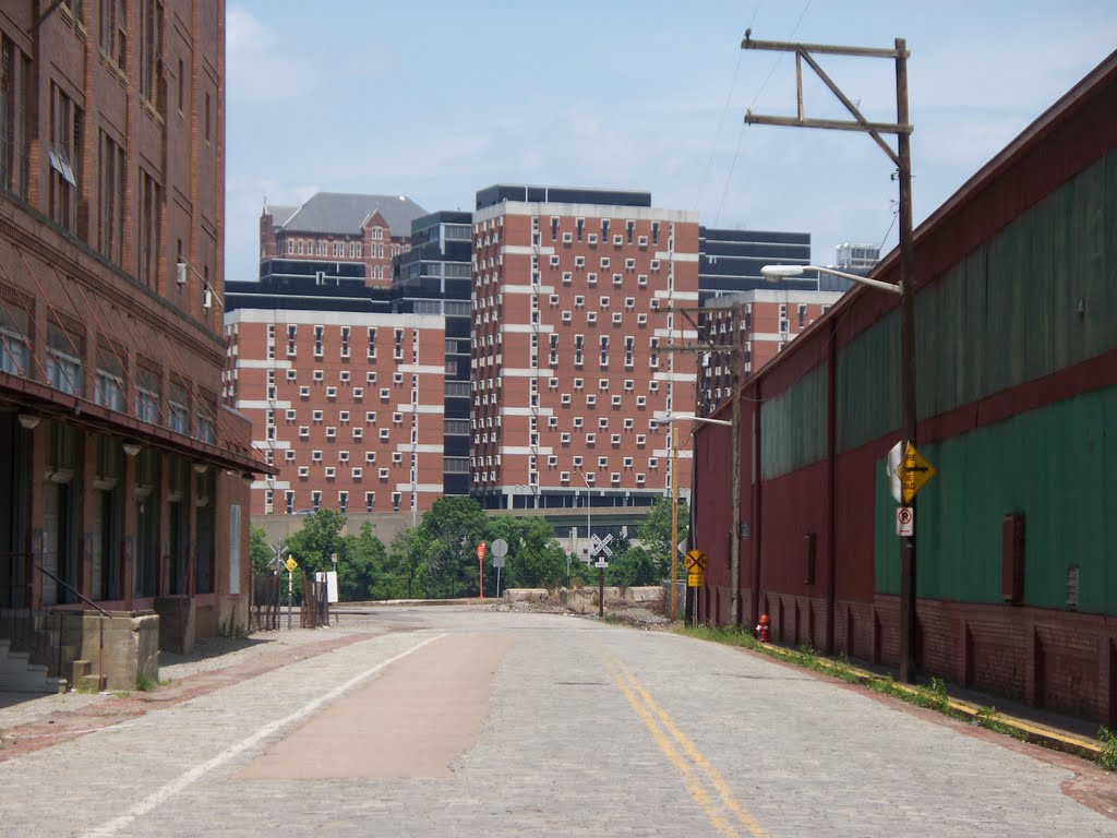
[[[708,626],[688,627],[675,623],[674,630],[699,640],[709,640],[712,642],[751,649],[775,660],[783,660],[801,666],[804,669],[829,675],[847,684],[860,684],[875,693],[889,695],[908,704],[936,711],[952,718],[968,720],[971,724],[993,731],[994,733],[1001,733],[1024,742],[1046,744],[1042,740],[1030,735],[1027,731],[1002,721],[995,707],[980,707],[976,713],[967,713],[956,704],[952,704],[946,689],[946,682],[942,678],[932,678],[930,684],[927,686],[898,684],[892,679],[891,675],[873,675],[855,669],[850,666],[844,654],[831,658],[818,654],[810,646],[790,649],[783,646],[762,644],[751,632],[741,629],[710,628]],[[1117,732],[1110,731],[1108,727],[1101,727],[1098,731],[1098,741],[1101,743],[1101,753],[1097,756],[1098,765],[1107,771],[1117,771]]]

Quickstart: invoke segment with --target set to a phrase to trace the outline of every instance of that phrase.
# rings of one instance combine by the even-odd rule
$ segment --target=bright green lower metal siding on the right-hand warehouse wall
[[[1115,428],[1109,388],[920,446],[938,474],[916,513],[919,597],[1001,602],[1001,520],[1023,513],[1024,604],[1065,608],[1067,572],[1078,566],[1078,610],[1117,613]],[[884,460],[877,473],[875,579],[878,592],[896,593],[896,502]]]

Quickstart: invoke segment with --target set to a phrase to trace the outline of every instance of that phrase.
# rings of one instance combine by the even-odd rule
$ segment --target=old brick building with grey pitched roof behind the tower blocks
[[[405,196],[318,192],[298,207],[260,213],[260,278],[313,276],[319,285],[361,277],[390,288],[392,259],[426,211]]]

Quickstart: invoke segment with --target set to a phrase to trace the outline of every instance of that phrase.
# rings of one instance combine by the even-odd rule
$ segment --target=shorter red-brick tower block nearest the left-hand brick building
[[[446,320],[328,302],[226,315],[229,396],[278,469],[252,515],[422,513],[442,495]]]

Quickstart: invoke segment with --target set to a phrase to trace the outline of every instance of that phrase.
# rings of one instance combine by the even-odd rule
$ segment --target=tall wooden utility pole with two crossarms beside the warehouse
[[[911,240],[911,132],[908,122],[907,41],[897,38],[894,49],[870,47],[839,47],[823,44],[787,44],[752,39],[752,30],[745,30],[742,49],[763,49],[795,54],[795,104],[796,114],[790,116],[763,116],[752,111],[745,114],[745,124],[784,125],[789,127],[828,128],[831,131],[857,131],[869,134],[889,160],[896,164],[896,180],[899,182],[899,250],[900,250],[900,435],[913,446],[916,442],[916,350],[915,350],[915,249]],[[850,98],[822,70],[814,55],[839,55],[859,58],[888,58],[896,63],[896,122],[869,122]],[[815,120],[803,115],[803,61],[814,70],[822,83],[830,88],[853,121]],[[896,150],[881,134],[896,135]],[[914,499],[910,502],[914,506]],[[916,680],[915,635],[916,635],[916,542],[915,535],[904,536],[900,542],[900,680],[913,684]],[[833,580],[831,580],[831,584]]]

